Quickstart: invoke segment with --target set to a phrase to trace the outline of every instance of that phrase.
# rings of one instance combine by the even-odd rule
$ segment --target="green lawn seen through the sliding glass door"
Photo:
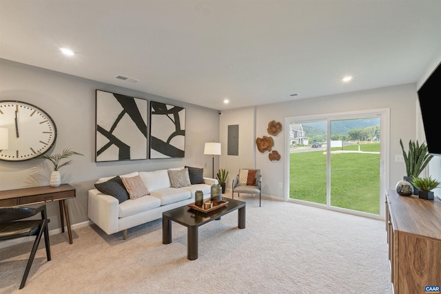
[[[358,150],[359,145],[344,150]],[[332,150],[341,150],[333,148]],[[380,143],[360,144],[361,151],[380,151]],[[331,205],[380,214],[380,154],[331,154]],[[326,204],[326,155],[292,153],[289,197]]]

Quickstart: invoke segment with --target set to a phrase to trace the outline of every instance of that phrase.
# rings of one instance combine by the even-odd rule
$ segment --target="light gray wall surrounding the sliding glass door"
[[[267,125],[271,120],[282,123],[285,129],[287,127],[285,126],[285,117],[389,108],[390,134],[382,134],[382,136],[390,136],[389,162],[386,162],[384,169],[386,173],[389,173],[390,178],[386,187],[393,189],[396,182],[401,180],[405,173],[404,163],[395,162],[395,154],[402,154],[400,138],[404,142],[416,138],[416,114],[419,112],[419,109],[416,108],[416,99],[416,84],[413,83],[349,94],[260,105],[255,109],[223,111],[220,119],[220,138],[225,139],[228,125],[238,124],[240,132],[239,156],[236,156],[238,157],[236,161],[231,160],[234,156],[220,156],[220,168],[227,169],[230,174],[237,174],[240,167],[256,166],[262,170],[263,194],[283,199],[285,188],[278,187],[278,182],[283,182],[283,187],[287,184],[285,182],[285,132],[273,136],[274,149],[282,156],[279,161],[270,161],[268,152],[260,154],[255,151],[256,138],[269,136]],[[245,135],[242,136],[243,134]],[[227,187],[231,185],[231,178]]]

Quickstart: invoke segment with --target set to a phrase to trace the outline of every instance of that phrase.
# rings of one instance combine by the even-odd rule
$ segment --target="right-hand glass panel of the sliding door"
[[[329,205],[379,215],[380,118],[331,120],[330,129]]]

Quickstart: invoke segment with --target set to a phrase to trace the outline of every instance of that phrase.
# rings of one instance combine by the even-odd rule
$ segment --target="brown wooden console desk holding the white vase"
[[[59,201],[61,232],[64,233],[64,211],[66,224],[68,225],[69,243],[72,244],[72,231],[70,229],[68,203],[66,202],[66,200],[70,198],[75,198],[75,189],[68,184],[63,184],[59,187],[43,186],[5,190],[0,191],[0,207],[14,207]]]

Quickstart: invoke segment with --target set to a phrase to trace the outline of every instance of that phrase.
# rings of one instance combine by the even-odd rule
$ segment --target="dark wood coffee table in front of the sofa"
[[[172,242],[172,221],[187,227],[187,258],[198,258],[199,227],[212,220],[220,220],[221,216],[238,209],[238,228],[245,229],[245,205],[246,202],[224,198],[228,201],[223,207],[210,212],[202,212],[191,209],[188,205],[163,212],[163,244]]]

